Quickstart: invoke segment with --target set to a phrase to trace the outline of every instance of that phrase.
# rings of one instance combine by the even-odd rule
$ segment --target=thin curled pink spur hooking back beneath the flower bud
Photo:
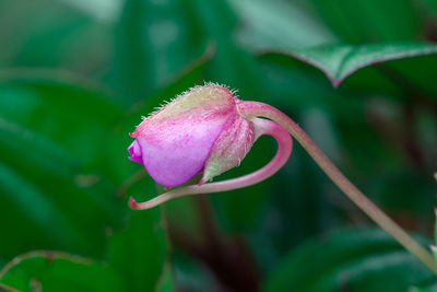
[[[293,140],[290,137],[288,132],[274,121],[261,118],[253,118],[251,119],[251,121],[253,122],[255,126],[253,128],[256,138],[262,135],[270,135],[277,142],[277,152],[265,166],[251,174],[244,175],[233,179],[227,179],[217,183],[209,183],[201,186],[191,185],[191,186],[180,187],[178,189],[160,195],[145,202],[137,202],[131,197],[129,199],[129,207],[134,210],[150,209],[177,197],[244,188],[260,183],[265,178],[272,176],[288,160],[293,149]]]

